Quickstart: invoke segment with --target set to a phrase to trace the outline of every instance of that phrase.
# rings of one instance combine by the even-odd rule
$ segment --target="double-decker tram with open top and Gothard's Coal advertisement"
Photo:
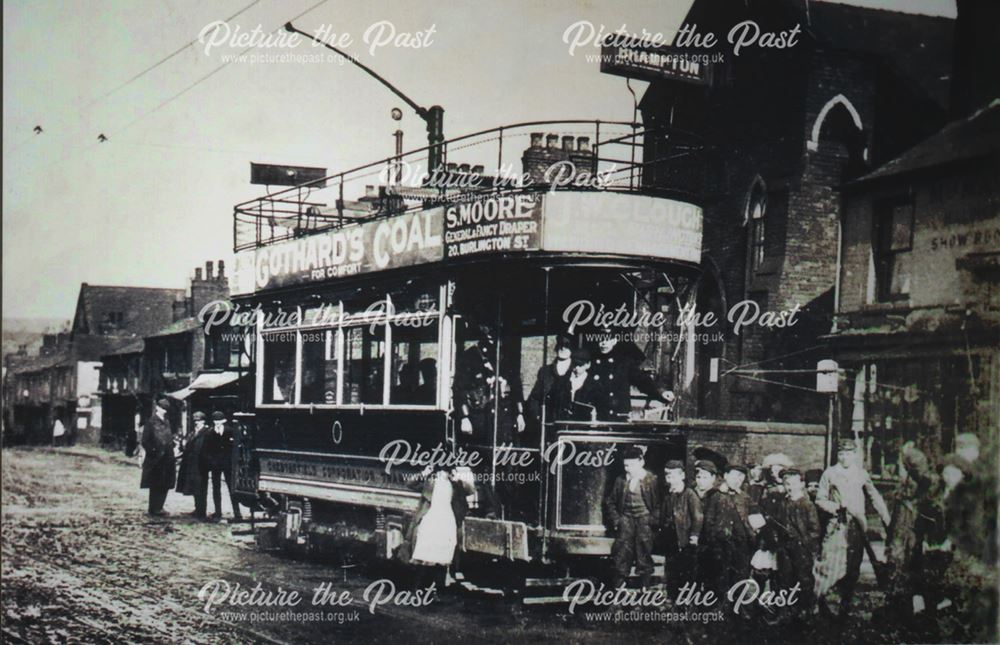
[[[595,145],[532,135],[522,157],[611,168],[598,188],[537,168],[541,181],[478,169],[458,188],[407,183],[395,158],[237,206],[235,301],[255,310],[237,481],[275,514],[280,540],[347,538],[391,558],[415,482],[445,464],[469,494],[463,567],[610,552],[602,500],[623,449],[641,446],[653,472],[686,457],[676,410],[694,342],[678,316],[702,226],[696,204],[643,187],[642,164],[607,160],[640,145],[615,125],[523,128],[603,128]],[[516,130],[499,130],[508,150]],[[459,141],[445,144],[453,155]],[[373,171],[388,185],[345,199]]]

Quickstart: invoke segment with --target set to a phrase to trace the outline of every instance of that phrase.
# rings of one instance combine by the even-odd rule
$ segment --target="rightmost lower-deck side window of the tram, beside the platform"
[[[435,405],[438,375],[438,319],[425,317],[392,326],[393,405]]]

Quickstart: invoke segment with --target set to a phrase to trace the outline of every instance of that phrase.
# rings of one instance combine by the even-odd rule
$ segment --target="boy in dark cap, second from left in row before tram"
[[[660,535],[668,589],[676,592],[694,581],[696,549],[703,515],[701,499],[684,484],[684,464],[668,461],[663,467],[667,490],[660,503]]]

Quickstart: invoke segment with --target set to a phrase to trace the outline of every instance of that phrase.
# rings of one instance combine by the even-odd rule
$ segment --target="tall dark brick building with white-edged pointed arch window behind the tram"
[[[762,31],[798,25],[797,44],[734,56],[726,36],[745,20]],[[699,310],[723,321],[741,302],[749,312],[798,313],[793,326],[739,334],[723,322],[724,340],[699,346],[684,412],[825,424],[815,370],[829,358],[839,187],[944,123],[953,21],[832,3],[696,0],[685,24],[716,34],[722,46],[709,56],[722,61],[694,81],[652,80],[639,109],[660,134],[645,137],[643,181],[704,207]],[[678,131],[699,145],[671,154]]]

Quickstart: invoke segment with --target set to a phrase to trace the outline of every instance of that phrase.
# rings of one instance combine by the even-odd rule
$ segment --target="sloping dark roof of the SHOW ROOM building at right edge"
[[[952,121],[936,134],[849,185],[990,155],[1000,155],[1000,99],[970,117]]]

